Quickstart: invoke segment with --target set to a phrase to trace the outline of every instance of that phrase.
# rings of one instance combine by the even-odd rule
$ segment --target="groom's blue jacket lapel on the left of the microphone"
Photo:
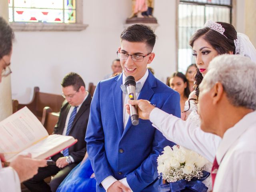
[[[123,120],[123,94],[120,88],[122,84],[122,75],[116,78],[116,83],[113,84],[112,91],[113,91],[113,105],[114,105],[114,112],[116,116],[116,123],[118,126],[118,130],[120,136],[122,136],[124,132],[124,120]]]

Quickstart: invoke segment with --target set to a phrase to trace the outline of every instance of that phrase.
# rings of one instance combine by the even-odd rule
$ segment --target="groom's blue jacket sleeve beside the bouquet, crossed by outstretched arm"
[[[162,110],[180,117],[180,95],[178,92],[173,92],[166,99]],[[162,133],[156,130],[151,154],[142,162],[140,167],[126,175],[127,182],[133,191],[142,191],[156,180],[158,177],[156,161],[163,148],[167,145],[172,146],[174,143],[166,140]]]

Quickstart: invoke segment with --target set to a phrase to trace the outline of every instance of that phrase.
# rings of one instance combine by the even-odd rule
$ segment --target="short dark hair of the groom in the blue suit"
[[[148,48],[152,51],[156,43],[156,34],[154,31],[146,25],[135,24],[126,28],[121,36],[120,40],[126,40],[129,42],[145,42]]]

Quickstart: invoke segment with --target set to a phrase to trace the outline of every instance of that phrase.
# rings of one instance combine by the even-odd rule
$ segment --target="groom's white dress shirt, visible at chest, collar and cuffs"
[[[125,78],[126,78],[126,76],[125,76],[125,74],[124,74],[124,72],[123,72],[123,76],[122,76],[122,80],[123,80],[123,84],[125,83]],[[138,83],[138,82],[140,82],[141,83],[141,85],[142,85],[142,87],[144,86],[144,83],[146,82],[146,79],[148,78],[148,69],[146,70],[146,73],[144,74],[144,76],[142,77],[142,78],[140,78],[140,80],[138,80],[138,81],[136,81],[136,84]],[[120,88],[121,89],[121,88]],[[138,99],[138,97],[139,97],[139,95],[140,95],[140,93],[137,93],[136,92],[136,98]],[[124,123],[124,128],[125,128],[125,126],[126,126],[126,124],[127,124],[127,122],[128,122],[128,119],[129,119],[129,117],[130,117],[130,115],[126,112],[126,108],[125,108],[125,105],[128,103],[128,94],[124,94],[123,93],[123,123]],[[108,176],[108,177],[106,177],[102,182],[101,182],[101,184],[102,184],[102,186],[104,187],[104,189],[107,191],[108,190],[108,188],[114,183],[114,182],[116,182],[117,180],[116,180],[116,178],[114,178],[113,176]],[[119,180],[122,184],[124,184],[125,186],[127,186],[128,188],[130,188],[130,186],[129,186],[129,184],[128,184],[128,182],[127,182],[127,179],[126,179],[126,177],[125,178],[123,178],[123,179],[121,179],[121,180]],[[131,188],[130,188],[130,190],[131,190]],[[131,190],[132,191],[132,190]]]

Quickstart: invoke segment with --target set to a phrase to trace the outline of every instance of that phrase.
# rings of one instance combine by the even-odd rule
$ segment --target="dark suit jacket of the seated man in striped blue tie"
[[[86,142],[84,141],[84,136],[87,129],[91,101],[92,96],[89,94],[86,100],[81,105],[80,109],[78,110],[69,133],[70,136],[73,136],[75,139],[78,140],[76,144],[68,148],[69,155],[72,156],[75,163],[79,163],[80,161],[82,161],[86,153]],[[54,134],[62,135],[70,107],[71,105],[65,100],[60,109],[60,117],[58,119],[58,122],[54,127]],[[62,156],[63,155],[61,153],[58,153],[54,155],[52,159],[56,161]]]

